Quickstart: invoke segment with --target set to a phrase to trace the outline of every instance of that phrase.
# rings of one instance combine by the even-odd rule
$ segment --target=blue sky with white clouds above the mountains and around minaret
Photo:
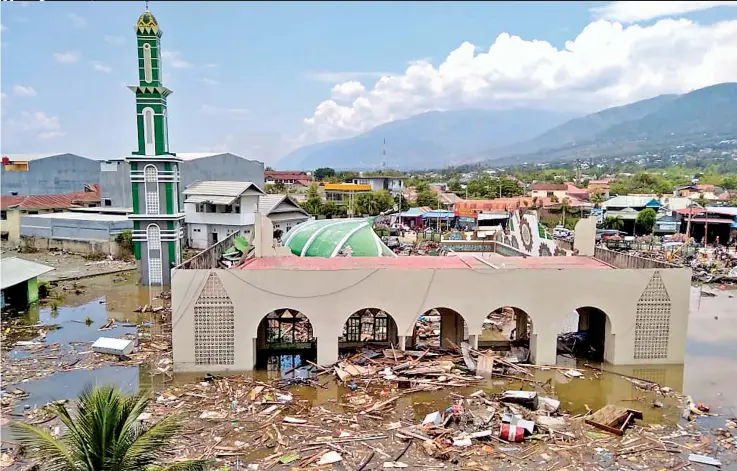
[[[296,146],[430,109],[594,111],[737,81],[737,8],[643,2],[633,12],[626,3],[154,1],[174,90],[171,150],[273,164]],[[0,8],[2,152],[134,150],[124,85],[136,78],[133,27],[144,3]],[[688,21],[658,23],[669,16]],[[475,55],[496,49],[474,57],[464,42]]]

